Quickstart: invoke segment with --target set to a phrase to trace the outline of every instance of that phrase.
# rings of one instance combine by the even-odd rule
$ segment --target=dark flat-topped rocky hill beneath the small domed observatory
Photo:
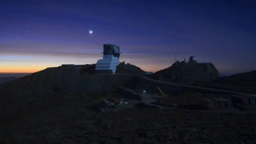
[[[219,72],[212,63],[175,62],[150,78],[166,82],[207,82],[218,79]]]

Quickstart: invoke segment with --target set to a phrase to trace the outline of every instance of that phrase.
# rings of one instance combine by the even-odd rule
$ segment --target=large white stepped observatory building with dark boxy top
[[[103,44],[103,59],[97,61],[96,74],[115,74],[119,65],[120,48],[114,44]]]

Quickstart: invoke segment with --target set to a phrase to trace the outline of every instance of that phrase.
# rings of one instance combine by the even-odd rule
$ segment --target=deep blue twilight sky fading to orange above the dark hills
[[[255,7],[254,0],[1,0],[0,72],[96,63],[104,43],[146,71],[171,66],[175,54],[210,61],[221,74],[255,70]]]

